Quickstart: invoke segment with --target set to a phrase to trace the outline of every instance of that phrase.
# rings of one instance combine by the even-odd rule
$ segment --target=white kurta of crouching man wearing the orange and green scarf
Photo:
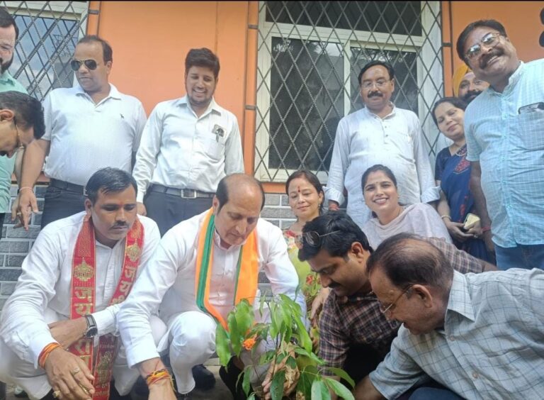
[[[159,309],[161,318],[169,319],[185,311],[199,311],[196,305],[195,274],[198,236],[208,211],[171,228],[161,240],[152,260],[142,272],[118,314],[118,328],[123,338],[128,365],[159,357],[149,327],[149,316]],[[259,218],[256,226],[259,270],[264,269],[273,294],[295,299],[298,276],[287,254],[281,230]],[[223,248],[214,235],[210,303],[223,318],[232,310],[240,246]],[[243,282],[240,282],[243,284]],[[259,293],[257,293],[259,295]],[[305,310],[305,301],[296,294]],[[259,301],[256,300],[258,307]]]

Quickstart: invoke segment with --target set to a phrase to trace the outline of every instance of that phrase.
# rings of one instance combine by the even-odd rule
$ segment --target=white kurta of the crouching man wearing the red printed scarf
[[[38,364],[45,345],[55,342],[45,310],[57,313],[58,321],[70,318],[72,300],[72,255],[85,212],[48,224],[42,229],[28,256],[23,273],[1,316],[0,335],[4,343],[26,362]],[[159,244],[157,223],[138,216],[144,227],[144,246],[137,276]],[[115,316],[120,304],[108,306],[118,284],[125,256],[125,240],[113,247],[96,242],[95,312],[98,336],[116,333]]]

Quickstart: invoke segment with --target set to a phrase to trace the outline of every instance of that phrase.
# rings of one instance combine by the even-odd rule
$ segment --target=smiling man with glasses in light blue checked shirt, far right
[[[465,111],[470,189],[480,218],[489,214],[484,238],[500,269],[544,268],[544,59],[521,62],[494,20],[470,23],[457,52],[489,82]]]

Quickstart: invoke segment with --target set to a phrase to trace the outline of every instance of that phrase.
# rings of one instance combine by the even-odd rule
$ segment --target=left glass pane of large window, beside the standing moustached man
[[[272,38],[268,167],[328,170],[344,116],[344,57],[335,43]]]

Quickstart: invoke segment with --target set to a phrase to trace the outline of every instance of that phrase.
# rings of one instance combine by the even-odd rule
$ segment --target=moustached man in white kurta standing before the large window
[[[336,129],[327,196],[329,209],[337,210],[344,203],[346,187],[347,213],[362,227],[370,210],[363,199],[361,177],[373,165],[385,165],[395,173],[403,204],[428,203],[440,196],[419,119],[390,101],[395,90],[393,67],[388,62],[368,62],[358,80],[365,108],[342,118]]]

